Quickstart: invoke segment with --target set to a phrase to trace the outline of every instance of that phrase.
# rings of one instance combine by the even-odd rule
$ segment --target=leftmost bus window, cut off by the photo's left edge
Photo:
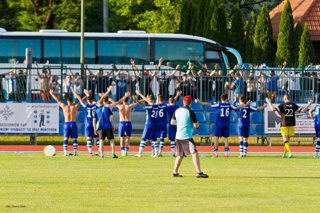
[[[0,62],[13,63],[25,59],[25,48],[32,48],[32,60],[40,60],[40,40],[0,39]]]

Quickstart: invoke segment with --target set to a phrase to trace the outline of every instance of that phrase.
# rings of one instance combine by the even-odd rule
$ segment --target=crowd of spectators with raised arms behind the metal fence
[[[135,90],[140,90],[144,96],[154,96],[159,91],[165,100],[174,97],[177,91],[181,91],[181,97],[190,95],[192,99],[200,98],[203,101],[217,101],[222,94],[226,94],[231,102],[238,101],[238,97],[244,95],[251,101],[264,100],[268,97],[274,103],[279,89],[289,94],[292,101],[301,101],[302,81],[305,91],[313,91],[315,103],[318,103],[320,95],[320,72],[306,72],[310,66],[303,69],[302,77],[301,72],[297,73],[294,67],[288,69],[286,62],[278,69],[267,69],[262,64],[259,67],[250,64],[248,69],[243,69],[239,65],[235,65],[233,69],[229,66],[221,69],[217,63],[210,64],[212,67],[209,67],[207,64],[198,65],[192,62],[186,67],[176,65],[173,68],[170,62],[166,62],[165,65],[163,62],[164,59],[160,58],[157,64],[144,66],[142,69],[130,59],[130,69],[111,64],[110,69],[100,67],[96,71],[91,71],[85,65],[84,76],[78,72],[74,74],[70,66],[62,75],[52,75],[49,61],[46,61],[40,74],[38,64],[34,62],[40,84],[38,98],[47,103],[52,99],[49,90],[53,89],[56,97],[66,100],[69,96],[73,96],[71,88],[79,96],[82,96],[83,89],[91,90],[92,97],[97,98],[99,93],[113,86],[112,92],[116,100],[119,100],[125,92],[133,93]],[[9,99],[18,102],[27,98],[27,94],[30,94],[27,93],[28,70],[30,69],[27,67],[24,70],[19,69],[16,63],[13,69],[1,74],[0,102]],[[278,88],[281,81],[283,82]]]

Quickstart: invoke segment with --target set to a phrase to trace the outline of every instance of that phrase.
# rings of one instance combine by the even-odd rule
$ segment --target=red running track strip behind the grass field
[[[45,145],[0,145],[0,152],[42,152]],[[57,152],[63,152],[62,144],[54,145]],[[290,147],[293,153],[313,153],[314,147]],[[197,146],[196,149],[199,153],[213,153],[213,146]],[[238,146],[230,146],[230,153],[238,153]],[[130,146],[129,152],[138,152],[139,146]],[[219,152],[223,152],[224,146],[220,146]],[[68,146],[68,151],[73,152],[72,145]],[[93,152],[98,152],[96,146],[92,146]],[[104,146],[105,152],[110,152],[110,146]],[[151,152],[151,146],[145,146],[144,152]],[[87,152],[85,145],[78,146],[78,152]],[[115,146],[115,152],[121,152],[120,146]],[[164,146],[163,152],[171,152],[169,146]],[[283,146],[249,146],[248,153],[282,153]]]

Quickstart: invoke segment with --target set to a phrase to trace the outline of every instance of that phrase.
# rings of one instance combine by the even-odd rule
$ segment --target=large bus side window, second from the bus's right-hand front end
[[[99,64],[127,64],[130,58],[136,63],[144,63],[149,58],[148,41],[99,40]]]

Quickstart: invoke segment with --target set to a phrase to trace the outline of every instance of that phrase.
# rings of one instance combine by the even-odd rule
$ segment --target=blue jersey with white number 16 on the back
[[[236,106],[229,103],[213,103],[212,108],[216,109],[216,125],[230,126],[230,113]]]

